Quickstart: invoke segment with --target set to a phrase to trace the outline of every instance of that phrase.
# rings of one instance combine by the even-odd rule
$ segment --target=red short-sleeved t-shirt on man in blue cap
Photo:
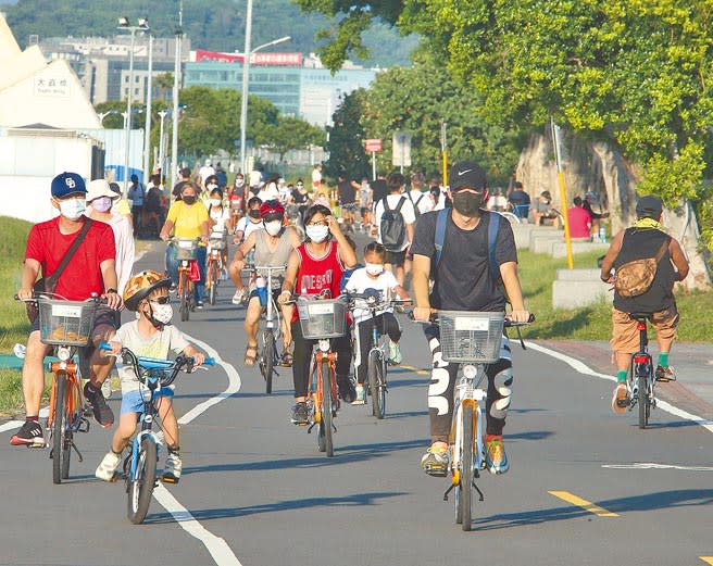
[[[38,261],[42,266],[42,277],[49,277],[57,271],[77,235],[78,231],[61,234],[59,216],[36,224],[29,230],[25,260]],[[115,257],[116,247],[111,226],[92,221],[84,241],[60,275],[54,292],[70,301],[84,301],[91,293],[103,293],[104,282],[99,266]]]

